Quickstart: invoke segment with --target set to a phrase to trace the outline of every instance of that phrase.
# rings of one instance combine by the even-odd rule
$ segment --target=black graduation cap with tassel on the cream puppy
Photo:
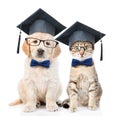
[[[17,27],[20,29],[17,53],[19,53],[21,30],[28,35],[35,32],[43,32],[55,36],[66,28],[64,25],[59,23],[56,19],[54,19],[42,9],[38,9],[35,13],[25,19]]]

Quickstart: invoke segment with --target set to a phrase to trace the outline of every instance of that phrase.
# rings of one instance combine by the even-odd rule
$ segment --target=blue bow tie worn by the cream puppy
[[[50,61],[49,60],[45,60],[43,62],[38,62],[38,61],[32,59],[31,63],[30,63],[30,66],[31,67],[42,66],[42,67],[45,67],[45,68],[49,68],[50,67]]]

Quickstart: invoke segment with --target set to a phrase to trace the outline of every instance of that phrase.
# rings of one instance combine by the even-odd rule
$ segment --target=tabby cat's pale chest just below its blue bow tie
[[[72,67],[70,72],[71,80],[76,80],[77,87],[82,91],[87,91],[90,83],[94,82],[97,74],[94,66]]]

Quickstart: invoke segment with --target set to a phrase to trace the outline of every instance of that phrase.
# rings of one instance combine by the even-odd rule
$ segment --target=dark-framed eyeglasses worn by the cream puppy
[[[38,38],[25,38],[26,42],[30,46],[38,46],[41,42],[43,42],[44,46],[47,48],[55,48],[59,43],[54,40],[40,40]]]

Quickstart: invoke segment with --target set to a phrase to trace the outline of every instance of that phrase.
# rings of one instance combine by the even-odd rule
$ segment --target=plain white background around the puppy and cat
[[[104,60],[100,62],[100,42],[95,45],[94,60],[103,88],[100,108],[89,111],[80,108],[70,113],[60,108],[51,113],[37,109],[33,113],[23,113],[22,105],[9,107],[8,103],[18,98],[17,83],[23,76],[25,55],[22,50],[16,54],[19,29],[16,26],[42,8],[65,26],[80,21],[106,34],[103,38]],[[120,115],[120,3],[119,0],[1,0],[0,1],[0,115]],[[22,33],[22,41],[27,35]],[[60,79],[63,85],[61,100],[67,98],[66,87],[69,80],[71,56],[68,46],[61,45],[59,57]]]

